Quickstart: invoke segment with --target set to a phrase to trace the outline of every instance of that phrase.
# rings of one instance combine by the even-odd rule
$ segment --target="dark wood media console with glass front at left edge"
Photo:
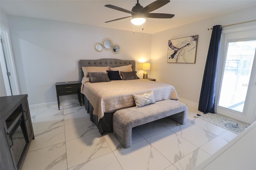
[[[28,95],[0,97],[0,169],[20,170],[34,131]]]

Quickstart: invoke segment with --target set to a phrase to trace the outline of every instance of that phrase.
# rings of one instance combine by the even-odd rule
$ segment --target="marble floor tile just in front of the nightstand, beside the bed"
[[[86,120],[90,120],[90,114],[87,113],[85,109],[81,109],[78,112],[67,113],[64,115],[65,125]]]

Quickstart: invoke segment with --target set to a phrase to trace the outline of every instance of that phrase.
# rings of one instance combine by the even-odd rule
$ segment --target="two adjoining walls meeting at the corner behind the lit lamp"
[[[252,7],[152,35],[9,15],[8,24],[20,91],[28,94],[30,105],[55,102],[55,82],[78,80],[78,60],[100,58],[135,59],[139,77],[143,71],[138,61],[146,59],[151,62],[149,77],[174,85],[180,99],[198,105],[212,34],[207,29],[254,19]],[[196,63],[167,63],[168,40],[192,35],[199,36]],[[94,44],[106,37],[121,46],[121,53],[94,50]]]

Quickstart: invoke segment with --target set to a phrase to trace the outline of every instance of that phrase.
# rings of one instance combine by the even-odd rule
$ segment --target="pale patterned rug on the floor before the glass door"
[[[207,113],[202,114],[198,118],[208,121],[214,125],[230,130],[236,134],[241,133],[244,129],[246,129],[250,124],[238,121],[236,119],[232,119],[230,117],[226,117],[220,115],[218,113]]]

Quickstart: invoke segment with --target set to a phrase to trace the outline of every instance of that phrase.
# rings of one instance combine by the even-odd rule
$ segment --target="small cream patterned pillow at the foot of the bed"
[[[132,95],[136,104],[136,107],[142,107],[145,105],[156,103],[154,91],[144,93],[143,95]]]

